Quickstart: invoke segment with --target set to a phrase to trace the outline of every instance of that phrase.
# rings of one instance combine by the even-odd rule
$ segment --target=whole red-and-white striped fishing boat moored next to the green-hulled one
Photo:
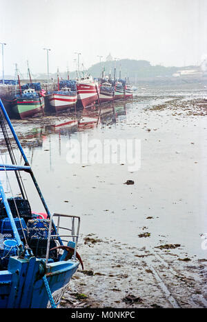
[[[75,107],[77,103],[76,81],[69,80],[69,75],[67,81],[59,81],[59,74],[57,74],[57,86],[57,91],[47,95],[52,111],[60,112]]]

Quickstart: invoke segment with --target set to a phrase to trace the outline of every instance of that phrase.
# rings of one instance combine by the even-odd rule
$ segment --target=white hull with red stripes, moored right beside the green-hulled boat
[[[52,110],[56,112],[68,110],[77,103],[77,95],[64,95],[64,94],[50,94],[48,100]]]

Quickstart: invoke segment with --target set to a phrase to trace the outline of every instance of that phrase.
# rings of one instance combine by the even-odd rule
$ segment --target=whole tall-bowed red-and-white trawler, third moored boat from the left
[[[91,76],[77,79],[77,106],[86,108],[98,99],[98,83]]]

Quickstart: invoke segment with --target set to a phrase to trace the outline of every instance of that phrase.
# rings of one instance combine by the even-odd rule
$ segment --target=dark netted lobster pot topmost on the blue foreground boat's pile
[[[13,217],[18,217],[17,214],[17,210],[19,212],[19,217],[23,218],[24,221],[27,223],[29,219],[32,219],[32,212],[31,212],[31,208],[30,208],[30,203],[28,202],[28,200],[23,199],[21,197],[15,197],[13,198],[8,198],[8,204],[10,206],[10,210],[12,212]],[[17,209],[16,209],[16,205],[17,205]],[[8,215],[6,213],[6,209],[3,205],[3,201],[1,201],[0,203],[0,219],[3,218],[7,218]]]

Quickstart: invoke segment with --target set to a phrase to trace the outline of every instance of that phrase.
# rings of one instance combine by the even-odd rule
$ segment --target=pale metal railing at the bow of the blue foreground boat
[[[53,217],[57,217],[57,225],[56,225],[56,230],[57,234],[51,234],[52,231],[52,223],[54,223]],[[69,226],[70,228],[62,227],[60,226],[61,219],[72,219],[72,223]],[[48,259],[49,259],[49,252],[50,252],[50,240],[51,237],[61,237],[61,241],[68,242],[68,240],[64,240],[63,238],[72,238],[72,241],[75,242],[75,249],[74,249],[74,254],[73,258],[74,260],[76,259],[76,252],[77,252],[77,243],[79,239],[79,229],[80,229],[80,217],[78,216],[73,216],[70,214],[51,214],[50,215],[50,225],[49,225],[49,231],[48,231],[48,244],[47,244],[47,252],[46,252],[46,265],[48,264]],[[59,231],[63,230],[64,232],[66,231],[65,234],[59,234]]]

